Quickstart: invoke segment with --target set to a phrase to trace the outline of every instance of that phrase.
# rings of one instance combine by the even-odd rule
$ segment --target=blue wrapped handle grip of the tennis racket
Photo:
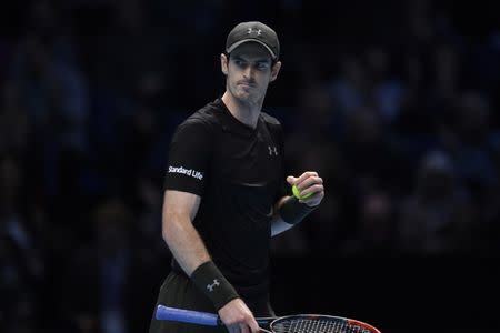
[[[206,326],[218,326],[221,324],[219,316],[214,313],[199,312],[183,309],[174,309],[164,305],[157,306],[157,320],[177,321]]]

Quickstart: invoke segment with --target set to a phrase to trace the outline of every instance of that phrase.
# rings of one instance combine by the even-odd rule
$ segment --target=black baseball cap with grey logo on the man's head
[[[270,27],[259,21],[241,22],[228,34],[226,52],[231,53],[236,48],[246,42],[258,42],[271,54],[272,60],[278,60],[280,42],[278,34]]]

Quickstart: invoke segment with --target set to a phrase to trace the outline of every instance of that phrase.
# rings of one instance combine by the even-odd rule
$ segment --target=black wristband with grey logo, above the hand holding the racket
[[[191,280],[212,301],[217,311],[229,301],[239,297],[234,287],[212,261],[199,265],[192,272]]]

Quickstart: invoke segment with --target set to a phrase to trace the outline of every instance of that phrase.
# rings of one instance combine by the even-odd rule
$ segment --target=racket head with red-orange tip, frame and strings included
[[[326,314],[296,314],[273,320],[269,327],[273,333],[381,333],[362,321]]]

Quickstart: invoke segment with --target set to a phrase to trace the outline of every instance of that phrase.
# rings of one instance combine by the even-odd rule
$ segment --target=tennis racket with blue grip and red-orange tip
[[[158,305],[157,320],[177,321],[206,326],[223,326],[219,315]],[[268,333],[381,333],[361,321],[322,314],[297,314],[278,317],[256,317],[259,327]],[[262,326],[266,326],[263,329]],[[269,331],[268,331],[269,329]]]

